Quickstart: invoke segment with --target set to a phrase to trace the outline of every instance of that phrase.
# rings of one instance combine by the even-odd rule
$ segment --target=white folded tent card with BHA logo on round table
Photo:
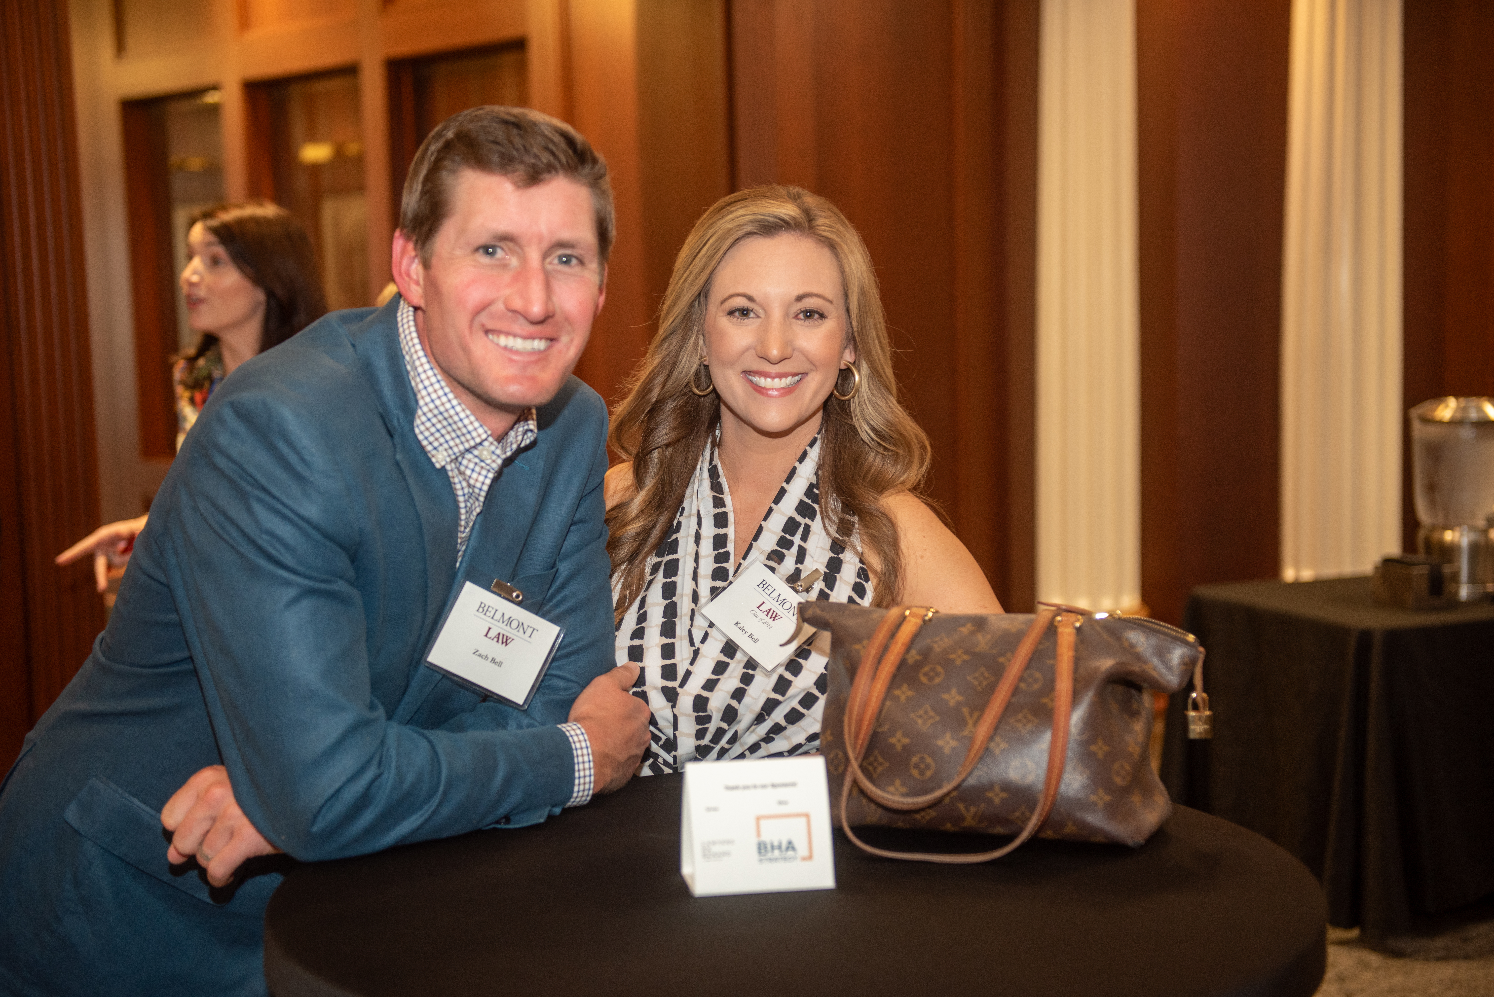
[[[687,763],[680,875],[696,897],[834,890],[825,760]]]

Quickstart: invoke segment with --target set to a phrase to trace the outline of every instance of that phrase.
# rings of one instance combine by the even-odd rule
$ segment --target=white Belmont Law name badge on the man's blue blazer
[[[463,582],[426,661],[477,690],[527,709],[565,628]]]

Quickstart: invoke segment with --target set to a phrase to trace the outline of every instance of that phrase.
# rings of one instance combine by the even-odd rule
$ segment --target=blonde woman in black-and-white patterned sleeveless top
[[[823,197],[738,191],[686,239],[607,475],[617,661],[653,713],[641,775],[819,745],[825,642],[765,673],[701,613],[741,566],[819,572],[804,598],[1001,612],[919,496],[929,443],[890,354],[867,246]]]

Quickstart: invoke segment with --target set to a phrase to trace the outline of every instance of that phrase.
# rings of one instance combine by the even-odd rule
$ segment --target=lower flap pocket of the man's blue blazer
[[[115,858],[130,863],[203,903],[223,906],[233,898],[235,882],[218,888],[208,884],[196,863],[173,867],[166,861],[170,834],[161,816],[115,784],[94,776],[63,810],[73,830]]]

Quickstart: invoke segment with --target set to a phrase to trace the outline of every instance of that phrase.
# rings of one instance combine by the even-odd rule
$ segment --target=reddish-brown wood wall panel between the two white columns
[[[1141,597],[1279,570],[1291,0],[1138,0]]]

